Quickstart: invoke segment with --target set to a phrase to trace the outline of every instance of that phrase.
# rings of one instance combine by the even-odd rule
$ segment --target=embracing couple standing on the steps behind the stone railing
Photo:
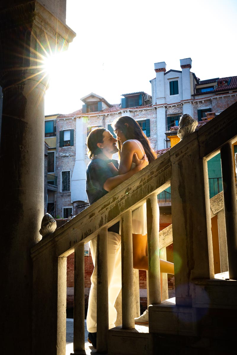
[[[113,123],[113,128],[117,139],[113,137],[111,132],[102,127],[91,131],[87,138],[87,148],[91,162],[86,171],[86,193],[90,204],[106,195],[106,193],[156,159],[149,140],[134,119],[129,116],[120,117]],[[119,152],[120,163],[112,159],[113,154],[117,152]],[[139,270],[148,270],[146,204],[132,212],[132,232],[133,267]],[[119,222],[108,228],[109,329],[115,327],[117,311],[114,304],[122,285],[120,234]],[[90,249],[94,271],[91,276],[91,291],[86,321],[89,332],[88,341],[96,348],[96,238],[90,241]],[[160,260],[160,269],[161,272],[174,273],[173,263],[164,260]],[[148,323],[148,311],[146,310],[142,316],[135,318],[135,323]]]

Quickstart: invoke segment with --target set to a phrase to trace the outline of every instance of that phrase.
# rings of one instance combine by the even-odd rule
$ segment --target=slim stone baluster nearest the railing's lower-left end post
[[[85,350],[85,269],[84,244],[74,251],[74,323],[73,350]]]

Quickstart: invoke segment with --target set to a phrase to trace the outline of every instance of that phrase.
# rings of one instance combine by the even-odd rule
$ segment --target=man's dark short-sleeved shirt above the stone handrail
[[[118,169],[118,161],[112,159],[115,168]],[[96,202],[108,191],[103,189],[107,179],[116,176],[109,169],[108,164],[103,159],[92,159],[86,169],[86,193],[90,204]],[[119,233],[119,222],[108,228],[108,231]]]

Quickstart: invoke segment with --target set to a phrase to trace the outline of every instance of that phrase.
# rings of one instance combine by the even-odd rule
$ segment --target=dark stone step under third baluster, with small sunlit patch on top
[[[134,329],[118,326],[109,330],[108,355],[147,355],[152,353],[150,346],[148,324],[135,324]]]

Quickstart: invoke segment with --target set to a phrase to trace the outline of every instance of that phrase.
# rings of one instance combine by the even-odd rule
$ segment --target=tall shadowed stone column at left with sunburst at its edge
[[[48,78],[42,56],[66,48],[74,33],[47,9],[52,1],[5,1],[0,5],[1,292],[5,339],[18,354],[32,354],[32,261],[44,213],[44,93]],[[66,1],[54,1],[65,21]],[[13,4],[13,5],[12,5]],[[14,6],[15,5],[15,6]],[[62,11],[60,11],[62,10]],[[63,15],[64,14],[64,15]],[[58,32],[56,36],[56,32]],[[66,40],[66,41],[65,41]],[[43,50],[45,49],[45,51]],[[47,277],[47,275],[45,275]],[[17,350],[16,350],[17,349]]]

